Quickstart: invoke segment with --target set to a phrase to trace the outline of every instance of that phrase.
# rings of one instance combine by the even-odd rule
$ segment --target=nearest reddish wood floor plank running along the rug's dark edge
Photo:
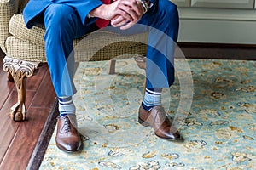
[[[30,119],[26,122],[20,122],[15,139],[10,144],[0,169],[26,169],[47,119],[48,114],[45,113],[49,113],[49,111],[49,108],[39,110],[38,108],[30,108],[28,110],[31,115]]]

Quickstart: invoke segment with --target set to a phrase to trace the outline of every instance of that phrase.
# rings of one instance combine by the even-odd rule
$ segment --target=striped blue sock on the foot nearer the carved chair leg
[[[66,116],[70,114],[75,114],[76,108],[73,104],[73,99],[69,97],[59,97],[59,111],[60,116]]]

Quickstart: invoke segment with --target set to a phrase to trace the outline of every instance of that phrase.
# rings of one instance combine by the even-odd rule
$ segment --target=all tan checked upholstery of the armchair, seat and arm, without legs
[[[0,0],[0,47],[13,58],[27,61],[46,62],[44,49],[44,26],[27,29],[22,10],[28,0]],[[75,59],[108,60],[125,54],[145,55],[148,33],[129,37],[112,32],[96,32],[74,41]]]

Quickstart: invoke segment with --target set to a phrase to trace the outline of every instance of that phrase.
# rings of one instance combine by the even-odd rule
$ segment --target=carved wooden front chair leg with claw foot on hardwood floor
[[[38,69],[39,63],[22,61],[5,57],[3,59],[3,71],[9,72],[15,82],[18,92],[18,102],[10,109],[10,116],[14,121],[26,119],[26,77],[31,77]]]

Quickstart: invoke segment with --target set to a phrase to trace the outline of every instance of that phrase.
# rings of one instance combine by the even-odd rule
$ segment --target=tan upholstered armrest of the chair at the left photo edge
[[[6,53],[5,41],[9,37],[9,20],[19,11],[20,0],[0,0],[0,47]]]

